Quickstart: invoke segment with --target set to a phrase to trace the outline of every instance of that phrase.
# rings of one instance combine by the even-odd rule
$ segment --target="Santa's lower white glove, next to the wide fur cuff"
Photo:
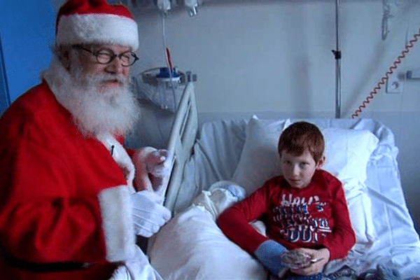
[[[136,235],[151,237],[171,218],[171,211],[162,206],[163,197],[148,190],[130,196]]]

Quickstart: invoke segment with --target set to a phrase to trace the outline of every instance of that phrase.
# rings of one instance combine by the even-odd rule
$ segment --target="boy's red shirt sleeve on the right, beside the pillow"
[[[356,243],[356,235],[351,227],[349,209],[342,183],[336,180],[332,184],[332,219],[334,228],[332,237],[326,239],[324,246],[330,251],[330,260],[345,258],[351,247]]]

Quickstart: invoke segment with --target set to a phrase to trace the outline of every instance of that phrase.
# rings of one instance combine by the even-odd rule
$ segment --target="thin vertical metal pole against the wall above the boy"
[[[341,50],[339,50],[339,0],[335,1],[335,118],[341,118]]]

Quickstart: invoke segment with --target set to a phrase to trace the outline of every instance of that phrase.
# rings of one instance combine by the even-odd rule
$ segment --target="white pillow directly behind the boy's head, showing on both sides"
[[[281,174],[277,144],[287,120],[260,120],[252,116],[246,126],[246,140],[232,181],[253,193],[268,179]],[[322,130],[322,128],[320,127]],[[366,166],[378,139],[368,130],[328,127],[322,130],[326,162],[323,169],[338,179],[366,180]]]

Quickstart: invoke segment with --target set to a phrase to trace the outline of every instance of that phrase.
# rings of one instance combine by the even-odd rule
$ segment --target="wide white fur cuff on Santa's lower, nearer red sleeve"
[[[125,261],[134,255],[136,242],[127,186],[107,188],[99,193],[106,260]]]

